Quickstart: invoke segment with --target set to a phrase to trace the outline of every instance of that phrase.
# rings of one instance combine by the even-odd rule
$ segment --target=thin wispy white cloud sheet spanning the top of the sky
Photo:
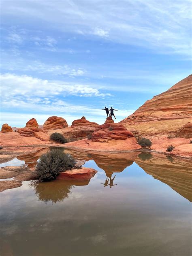
[[[28,0],[26,0],[28,2]],[[86,2],[87,3],[87,2]],[[95,34],[118,43],[139,45],[160,53],[191,55],[190,0],[3,1],[2,17],[45,23],[61,32]],[[71,19],[73,17],[73,19]],[[28,20],[29,22],[29,20]],[[109,33],[110,31],[110,33]]]

